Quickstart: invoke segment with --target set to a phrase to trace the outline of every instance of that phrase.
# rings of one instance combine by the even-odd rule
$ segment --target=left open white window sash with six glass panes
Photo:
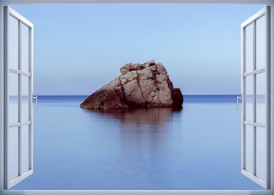
[[[5,6],[5,188],[33,173],[33,24]]]

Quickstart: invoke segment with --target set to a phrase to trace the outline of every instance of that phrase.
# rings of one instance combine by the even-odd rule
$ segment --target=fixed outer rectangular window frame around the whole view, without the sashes
[[[197,5],[219,5],[219,4],[239,4],[239,5],[252,5],[264,4],[271,6],[271,100],[274,102],[274,0],[0,0],[0,194],[13,195],[44,195],[44,194],[57,194],[57,195],[71,195],[71,194],[119,194],[119,195],[135,195],[135,194],[198,194],[198,195],[274,195],[274,103],[270,106],[270,114],[267,116],[270,120],[271,130],[271,185],[270,189],[266,190],[8,190],[4,189],[4,10],[3,6],[13,4],[47,4],[47,5],[66,5],[66,4],[197,4]],[[240,31],[240,24],[239,24]],[[269,121],[268,120],[268,121]],[[239,162],[240,163],[240,162]],[[240,172],[240,169],[239,169]],[[224,175],[225,177],[225,175]],[[197,181],[199,182],[199,181]]]

